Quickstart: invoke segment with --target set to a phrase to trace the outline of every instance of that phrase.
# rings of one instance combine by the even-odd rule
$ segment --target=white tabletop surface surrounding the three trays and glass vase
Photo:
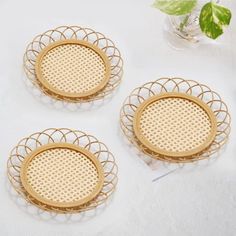
[[[236,4],[228,5],[236,16]],[[216,42],[173,50],[165,16],[147,0],[0,0],[0,235],[236,235],[236,21]],[[125,62],[119,91],[103,106],[64,111],[39,102],[23,82],[22,57],[38,33],[80,25],[114,40]],[[179,170],[152,183],[151,171],[124,143],[119,110],[131,90],[159,77],[197,80],[217,91],[232,115],[230,142],[208,166]],[[88,220],[35,214],[11,191],[6,162],[19,139],[48,127],[80,129],[105,142],[119,165],[110,204]]]

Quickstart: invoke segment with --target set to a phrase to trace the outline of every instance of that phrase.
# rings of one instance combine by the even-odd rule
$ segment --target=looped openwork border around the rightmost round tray
[[[210,146],[202,152],[191,156],[168,156],[154,152],[137,138],[134,131],[134,119],[138,108],[151,99],[153,96],[159,96],[165,93],[181,93],[187,96],[196,97],[201,100],[214,114],[216,119],[216,134]],[[200,84],[193,80],[184,80],[182,78],[161,78],[153,82],[148,82],[141,87],[134,89],[125,100],[121,113],[120,124],[123,133],[128,140],[141,152],[148,156],[167,162],[185,163],[206,159],[218,152],[226,143],[230,134],[231,118],[226,104],[221,97],[208,86]]]

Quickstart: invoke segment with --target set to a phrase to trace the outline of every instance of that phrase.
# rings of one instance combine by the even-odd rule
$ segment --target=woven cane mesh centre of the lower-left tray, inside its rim
[[[94,163],[82,153],[55,148],[35,156],[27,167],[27,182],[40,197],[71,203],[88,197],[98,184]]]

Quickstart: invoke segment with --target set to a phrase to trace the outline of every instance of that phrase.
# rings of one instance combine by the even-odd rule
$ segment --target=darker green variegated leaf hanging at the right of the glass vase
[[[199,23],[202,32],[207,37],[216,39],[223,34],[223,27],[230,24],[231,12],[229,9],[209,2],[201,10]]]

